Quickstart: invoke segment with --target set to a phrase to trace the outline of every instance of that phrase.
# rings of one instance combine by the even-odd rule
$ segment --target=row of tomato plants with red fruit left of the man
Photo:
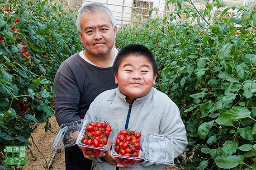
[[[6,145],[26,145],[54,110],[54,76],[82,48],[73,10],[48,0],[0,0],[0,167]],[[33,155],[33,152],[29,150]],[[17,167],[15,167],[17,169]]]

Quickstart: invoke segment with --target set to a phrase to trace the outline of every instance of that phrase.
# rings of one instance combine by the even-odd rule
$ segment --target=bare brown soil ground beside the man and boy
[[[65,170],[64,149],[51,150],[52,142],[59,130],[59,126],[55,117],[49,119],[51,130],[45,132],[45,123],[38,125],[37,129],[32,133],[30,142],[32,146],[27,153],[27,165],[24,165],[23,170]],[[35,160],[29,151],[33,151],[33,155],[37,157]],[[166,165],[165,170],[181,170],[177,165]]]

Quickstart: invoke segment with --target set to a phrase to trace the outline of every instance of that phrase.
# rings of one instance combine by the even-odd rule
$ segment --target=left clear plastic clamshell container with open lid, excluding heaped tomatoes
[[[103,153],[110,147],[109,139],[112,138],[112,133],[109,133],[108,141],[102,147],[94,147],[82,143],[82,139],[86,131],[86,125],[90,124],[91,122],[96,123],[97,121],[80,119],[76,122],[62,124],[50,148],[60,149],[63,147],[72,147],[77,144],[82,147],[87,155],[93,155],[95,157],[102,156]]]

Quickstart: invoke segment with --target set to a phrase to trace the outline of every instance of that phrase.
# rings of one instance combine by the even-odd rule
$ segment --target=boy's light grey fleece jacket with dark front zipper
[[[129,110],[130,107],[130,110]],[[181,155],[187,146],[185,126],[180,118],[180,110],[164,93],[152,87],[151,91],[132,104],[120,93],[119,87],[102,92],[91,103],[85,119],[108,122],[114,133],[113,141],[120,130],[127,129],[146,133],[169,134],[174,138],[174,157]],[[109,151],[110,152],[110,151]],[[116,170],[115,165],[93,159],[94,170]],[[120,170],[163,170],[163,164],[150,161],[135,163]]]

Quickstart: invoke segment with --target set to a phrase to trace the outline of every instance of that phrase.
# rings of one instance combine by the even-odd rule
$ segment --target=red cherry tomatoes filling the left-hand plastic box
[[[112,131],[110,124],[104,122],[90,122],[85,127],[82,143],[90,147],[103,147],[108,143],[110,132]],[[86,155],[99,157],[101,152],[97,148],[83,147]]]

